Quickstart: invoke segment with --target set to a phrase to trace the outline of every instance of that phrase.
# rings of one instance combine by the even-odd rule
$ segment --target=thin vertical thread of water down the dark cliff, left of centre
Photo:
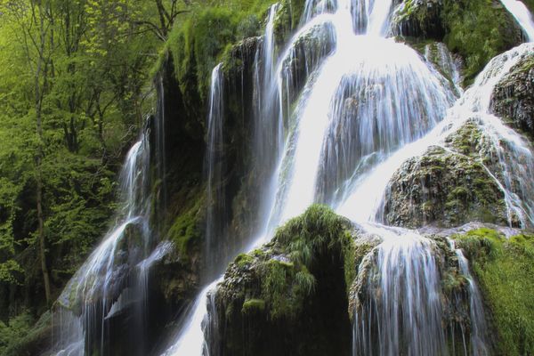
[[[223,189],[223,63],[217,65],[211,77],[209,114],[207,117],[206,150],[206,275],[216,273],[218,263],[224,261],[223,241],[226,234],[224,212],[226,202]]]

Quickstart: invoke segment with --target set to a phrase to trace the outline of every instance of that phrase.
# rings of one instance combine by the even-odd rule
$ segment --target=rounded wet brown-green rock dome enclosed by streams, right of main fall
[[[409,159],[393,175],[384,221],[409,228],[472,221],[506,224],[504,198],[481,162],[433,147],[422,157]]]

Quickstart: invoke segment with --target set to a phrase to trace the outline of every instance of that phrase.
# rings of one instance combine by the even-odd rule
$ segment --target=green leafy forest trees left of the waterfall
[[[191,6],[0,0],[1,328],[48,309],[112,223],[150,68]]]

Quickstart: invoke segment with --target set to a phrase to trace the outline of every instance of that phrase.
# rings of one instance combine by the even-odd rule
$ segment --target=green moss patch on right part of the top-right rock
[[[498,53],[521,41],[521,33],[506,9],[493,0],[444,2],[443,21],[449,32],[444,42],[465,58],[465,84]]]

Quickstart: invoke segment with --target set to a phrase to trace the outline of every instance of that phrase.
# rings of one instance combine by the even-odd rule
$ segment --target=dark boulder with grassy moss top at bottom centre
[[[270,243],[239,255],[214,295],[224,341],[214,352],[350,355],[346,286],[356,255],[352,224],[325,206],[310,207]]]

